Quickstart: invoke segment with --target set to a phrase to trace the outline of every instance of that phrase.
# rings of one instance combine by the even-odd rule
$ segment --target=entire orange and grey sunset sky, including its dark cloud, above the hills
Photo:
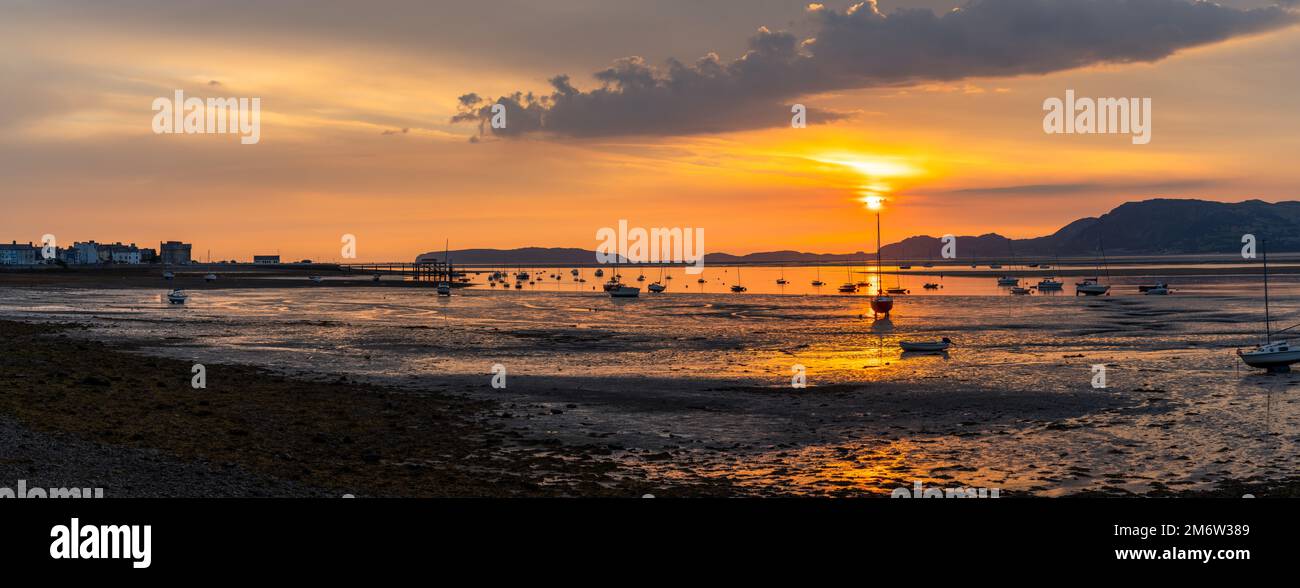
[[[1300,180],[1300,27],[1268,1],[112,4],[0,0],[5,241],[333,260],[351,233],[360,260],[408,260],[445,238],[595,248],[627,219],[705,228],[710,252],[852,252],[874,247],[866,191],[888,195],[890,242],[1034,237],[1153,196],[1295,199]],[[1086,23],[1058,47],[1054,22]],[[630,56],[649,78],[595,75]],[[670,59],[708,82],[679,90]],[[462,95],[558,74],[601,111],[481,138],[451,121]],[[1045,134],[1067,88],[1150,98],[1150,143]],[[153,134],[174,90],[260,98],[260,143]]]

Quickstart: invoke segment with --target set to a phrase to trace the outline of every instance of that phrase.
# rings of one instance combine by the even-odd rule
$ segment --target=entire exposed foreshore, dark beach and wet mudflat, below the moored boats
[[[968,330],[967,346],[940,359],[864,354],[863,345],[888,347],[884,336],[827,299],[606,308],[603,297],[541,293],[452,303],[413,291],[294,291],[286,314],[266,290],[214,291],[185,308],[153,301],[157,310],[105,290],[92,294],[94,311],[75,293],[34,291],[9,290],[23,310],[8,316],[72,325],[0,323],[0,389],[21,390],[0,401],[0,419],[36,438],[108,448],[134,472],[120,487],[143,488],[144,476],[162,496],[859,497],[915,480],[1006,497],[1300,488],[1287,477],[1300,441],[1288,389],[1300,381],[1238,376],[1226,354],[1197,351],[1235,341],[1222,329],[1238,327],[1223,325],[1251,320],[1217,298],[1022,302],[985,312],[988,330],[972,329],[962,298],[918,301],[901,325],[952,330],[945,321],[961,317]],[[833,316],[809,323],[790,312]],[[1057,346],[1031,351],[1032,362],[1001,341],[1043,320],[1057,325],[1034,345]],[[1141,346],[1140,362],[1117,354],[1126,337],[1152,332],[1182,343]],[[494,358],[510,364],[507,389],[488,384]],[[809,389],[789,388],[796,358],[810,366]],[[208,390],[190,389],[191,359],[208,367]],[[1098,362],[1112,369],[1106,392],[1088,385]],[[47,441],[0,462],[25,464],[29,481],[47,462],[53,472],[92,471],[42,450]],[[150,479],[136,451],[234,474]]]

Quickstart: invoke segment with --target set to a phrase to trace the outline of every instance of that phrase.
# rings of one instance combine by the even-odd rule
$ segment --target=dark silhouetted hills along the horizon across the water
[[[997,233],[957,235],[958,259],[1009,259],[1010,256],[1087,256],[1232,254],[1242,250],[1242,235],[1266,239],[1269,251],[1300,251],[1300,202],[1245,200],[1222,203],[1158,198],[1128,202],[1101,217],[1079,219],[1050,235],[1009,239]],[[909,237],[880,248],[885,259],[940,259],[940,237]],[[451,251],[451,260],[469,265],[580,265],[595,261],[595,251],[575,247],[524,247],[514,250],[471,248]],[[767,251],[749,255],[705,255],[705,263],[833,263],[861,261],[867,254],[807,254]],[[428,252],[417,260],[441,260],[443,252]]]

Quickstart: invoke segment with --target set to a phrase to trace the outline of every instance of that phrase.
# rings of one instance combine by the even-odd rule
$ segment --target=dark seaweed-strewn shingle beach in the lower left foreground
[[[0,474],[135,496],[619,496],[663,492],[603,448],[529,440],[439,392],[133,354],[69,327],[0,321]],[[90,467],[113,463],[114,467]],[[677,496],[727,494],[718,480]]]

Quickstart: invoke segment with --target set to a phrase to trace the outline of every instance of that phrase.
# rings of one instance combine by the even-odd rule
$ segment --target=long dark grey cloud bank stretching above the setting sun
[[[467,94],[454,122],[481,134],[562,137],[679,135],[789,124],[790,104],[810,94],[967,77],[1043,74],[1093,64],[1156,61],[1174,52],[1291,25],[1279,7],[1235,9],[1187,0],[972,0],[936,14],[881,13],[874,1],[838,12],[809,9],[815,34],[800,39],[759,29],[749,49],[653,68],[616,60],[581,91],[568,75],[549,94],[497,99]],[[493,104],[507,125],[493,129]],[[844,117],[809,112],[809,122]]]

